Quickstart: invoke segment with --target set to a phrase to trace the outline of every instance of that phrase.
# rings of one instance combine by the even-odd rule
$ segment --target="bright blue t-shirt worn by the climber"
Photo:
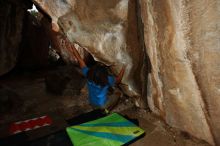
[[[82,73],[84,76],[87,76],[89,71],[88,67],[82,68]],[[94,82],[87,81],[87,86],[89,90],[89,102],[94,106],[103,107],[107,101],[107,93],[110,86],[115,84],[115,77],[108,76],[108,84],[104,87],[95,84]]]

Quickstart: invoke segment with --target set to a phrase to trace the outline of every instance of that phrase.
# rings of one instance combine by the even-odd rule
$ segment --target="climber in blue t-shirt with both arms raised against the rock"
[[[104,65],[94,65],[88,68],[73,45],[66,40],[62,43],[78,60],[82,73],[87,78],[90,104],[95,108],[111,110],[110,108],[118,101],[122,93],[115,92],[113,96],[107,97],[108,90],[110,87],[121,82],[126,66],[123,65],[120,73],[116,77],[109,75]]]

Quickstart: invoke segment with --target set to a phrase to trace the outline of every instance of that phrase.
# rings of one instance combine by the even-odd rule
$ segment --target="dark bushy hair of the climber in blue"
[[[87,79],[97,85],[104,87],[108,84],[108,70],[103,65],[94,65],[89,69]]]

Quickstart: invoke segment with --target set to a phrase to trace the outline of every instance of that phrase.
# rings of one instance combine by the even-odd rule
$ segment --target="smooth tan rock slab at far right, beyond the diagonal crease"
[[[206,103],[211,130],[220,145],[220,1],[197,0],[189,6],[192,7],[189,58]]]

